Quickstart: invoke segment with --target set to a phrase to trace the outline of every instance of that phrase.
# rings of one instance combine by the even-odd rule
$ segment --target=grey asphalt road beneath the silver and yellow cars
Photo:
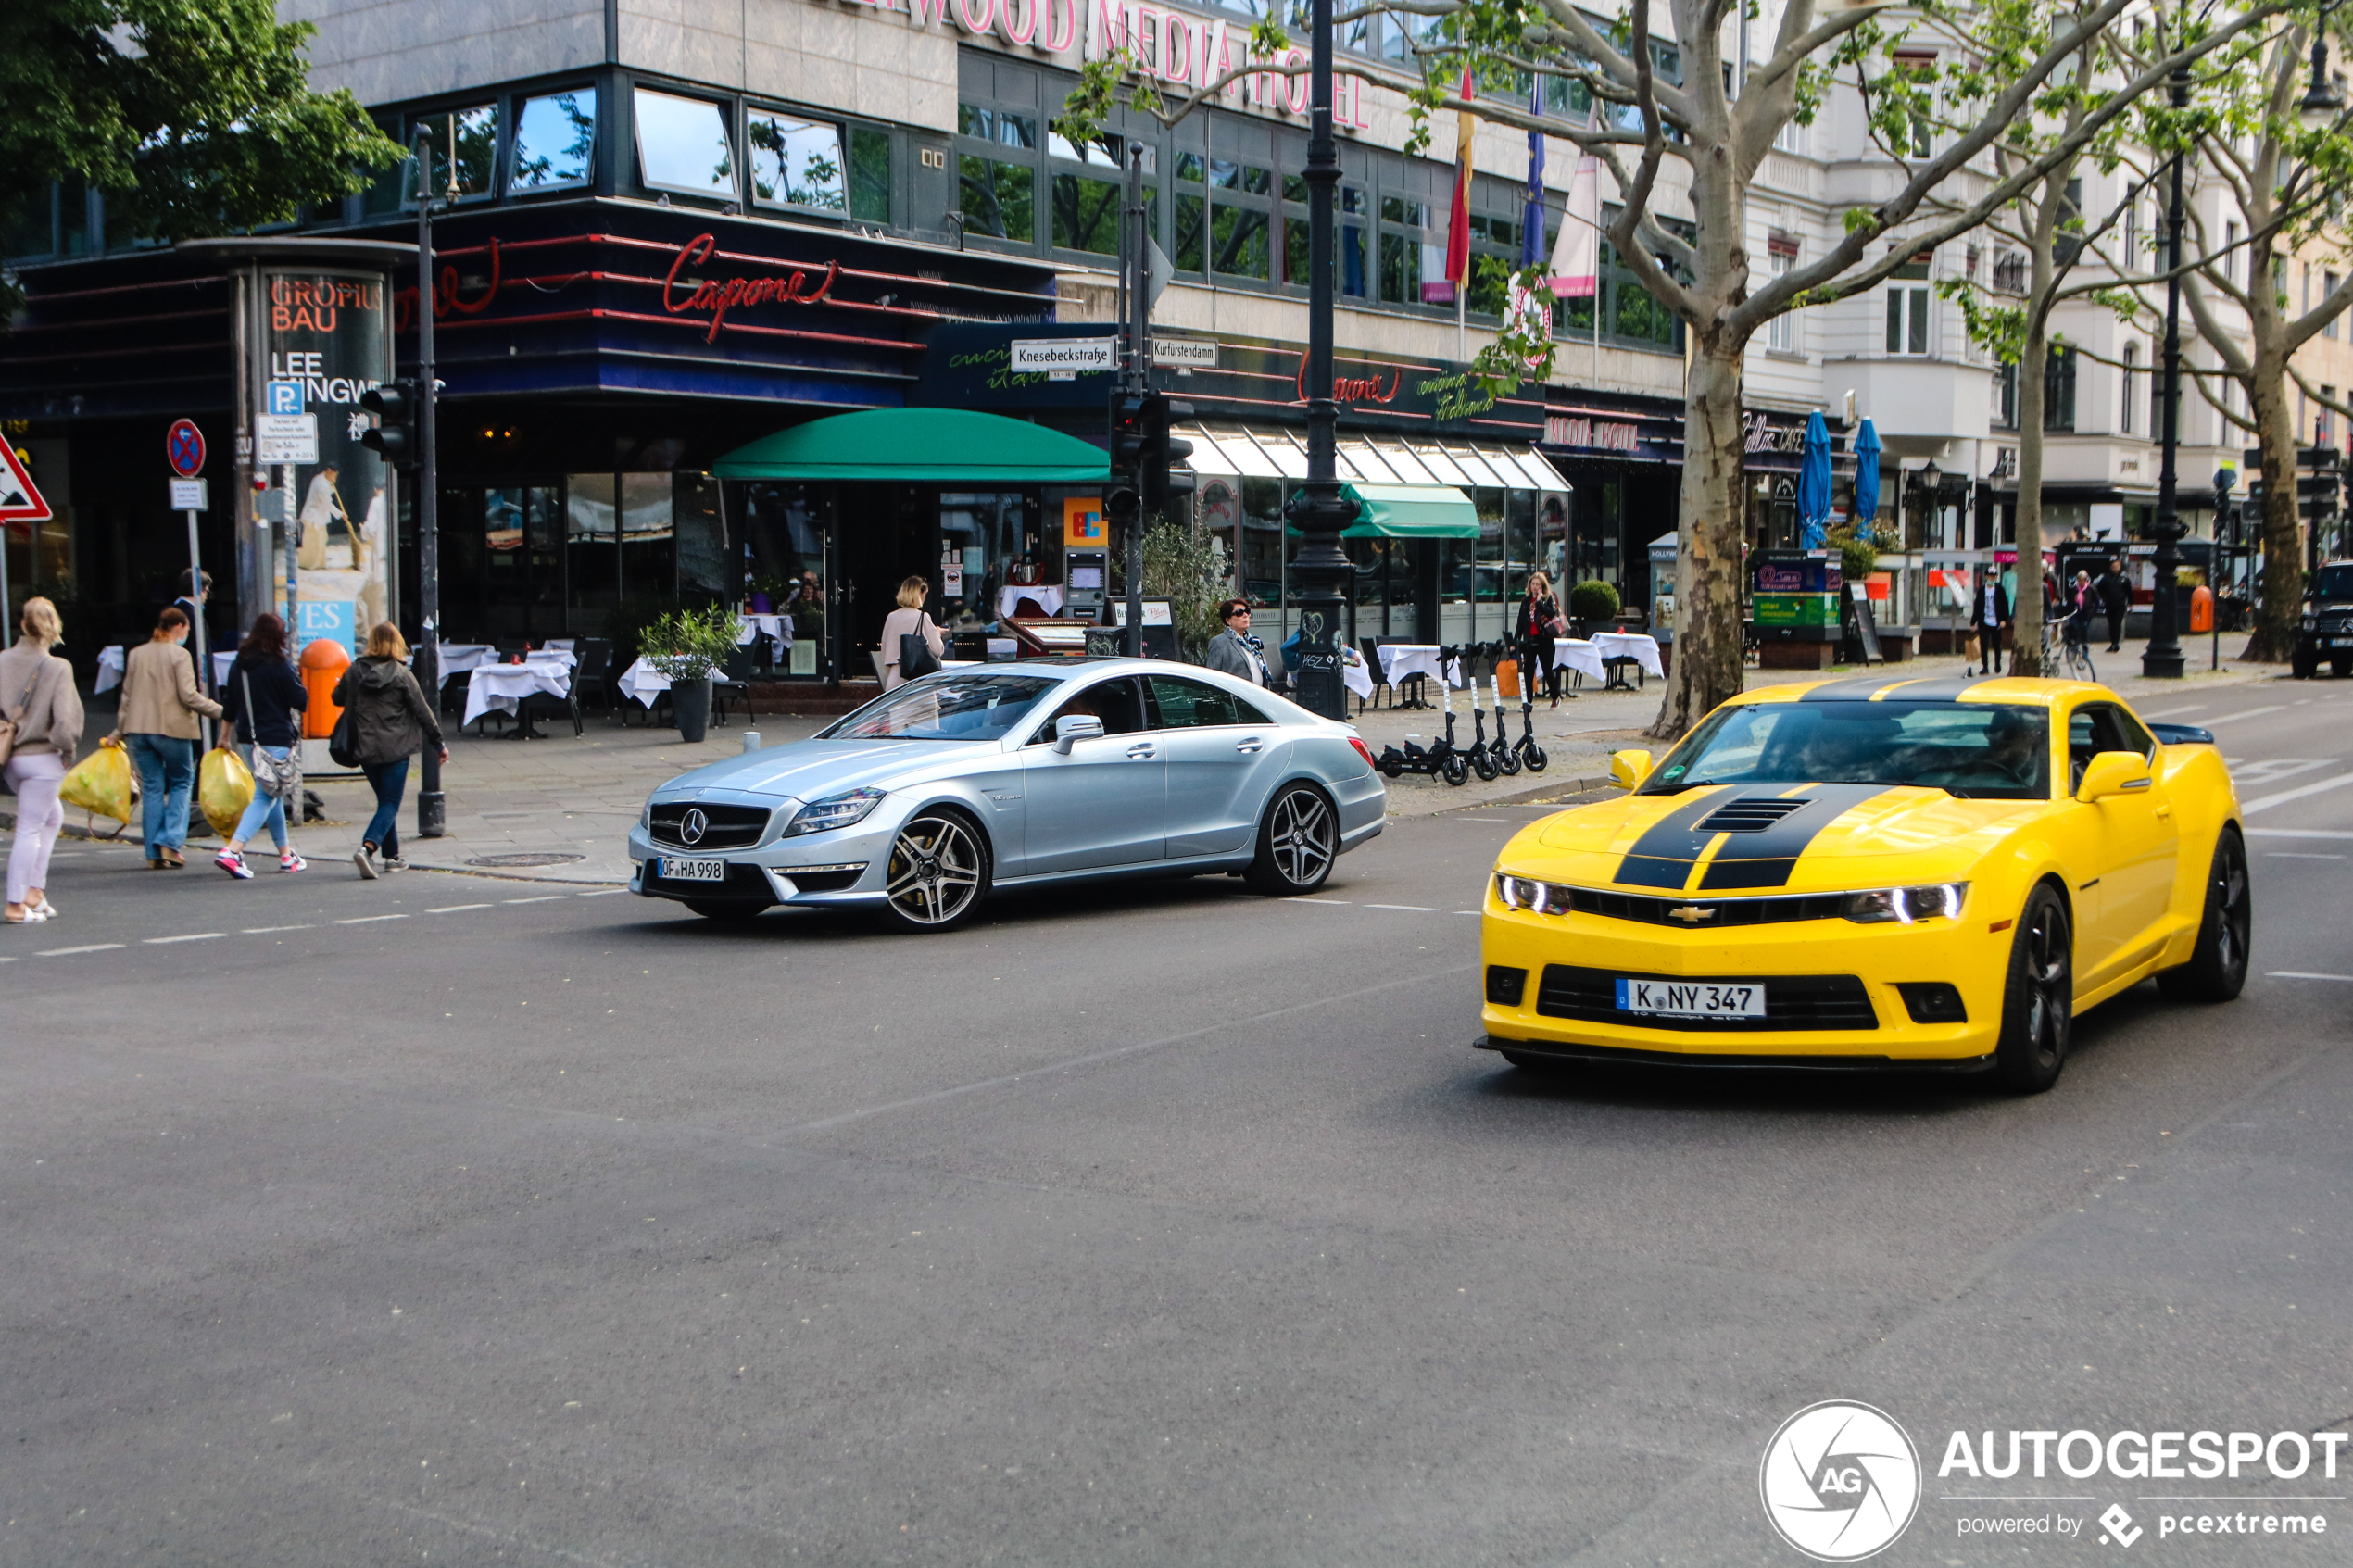
[[[75,846],[0,931],[0,1563],[1798,1563],[1758,1462],[1819,1399],[1929,1467],[1878,1561],[2115,1556],[2108,1505],[2344,1561],[2353,1450],[1934,1474],[2353,1413],[2353,682],[2188,708],[2257,978],[2033,1100],[1473,1051],[1527,809],[948,938]]]

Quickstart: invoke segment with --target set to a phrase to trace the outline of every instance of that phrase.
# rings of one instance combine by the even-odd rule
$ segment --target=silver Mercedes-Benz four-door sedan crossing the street
[[[654,790],[628,835],[631,891],[713,919],[849,905],[913,931],[1059,882],[1240,872],[1311,893],[1386,809],[1353,726],[1231,675],[965,665]]]

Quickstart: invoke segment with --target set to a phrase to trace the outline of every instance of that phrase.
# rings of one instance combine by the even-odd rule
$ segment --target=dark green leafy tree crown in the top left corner
[[[12,0],[0,202],[82,179],[111,233],[195,240],[344,200],[400,148],[348,89],[308,89],[311,33],[271,0]]]

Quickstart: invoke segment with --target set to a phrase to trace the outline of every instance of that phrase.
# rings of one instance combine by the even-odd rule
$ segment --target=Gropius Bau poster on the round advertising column
[[[292,545],[296,646],[327,637],[358,654],[367,628],[393,614],[391,475],[384,456],[360,444],[374,423],[360,395],[393,369],[386,303],[381,273],[261,275],[256,407],[318,428],[311,461],[294,463],[294,520],[271,564],[271,597],[285,611]]]

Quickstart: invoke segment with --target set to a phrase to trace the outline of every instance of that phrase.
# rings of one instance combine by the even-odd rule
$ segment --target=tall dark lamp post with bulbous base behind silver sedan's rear
[[[1339,531],[1355,522],[1355,501],[1339,489],[1339,404],[1332,402],[1332,188],[1339,183],[1339,146],[1332,141],[1332,0],[1308,9],[1308,477],[1285,510],[1299,527],[1292,562],[1292,595],[1299,604],[1299,705],[1327,719],[1348,717],[1348,693],[1339,675],[1346,623],[1344,592],[1355,574]]]

